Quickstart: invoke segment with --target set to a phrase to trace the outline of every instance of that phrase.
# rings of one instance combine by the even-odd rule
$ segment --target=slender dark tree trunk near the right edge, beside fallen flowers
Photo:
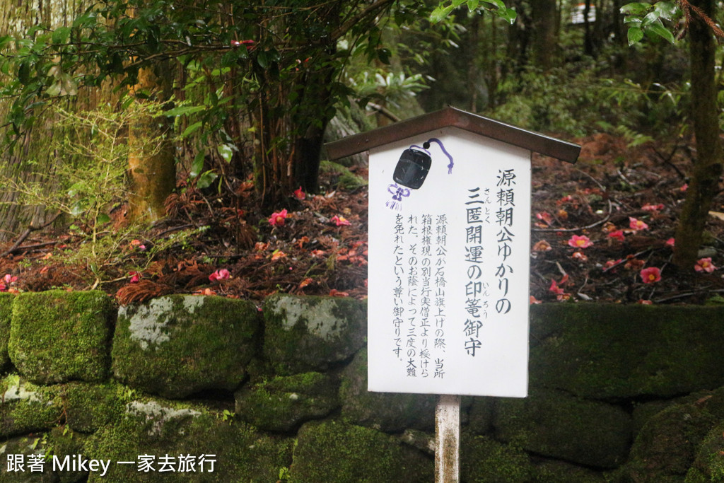
[[[691,0],[690,3],[709,16],[715,7],[713,0]],[[689,46],[691,92],[695,93],[691,96],[691,119],[696,136],[696,159],[676,229],[673,257],[674,264],[685,270],[694,268],[722,173],[715,84],[716,43],[711,28],[697,14],[692,15],[689,24]]]

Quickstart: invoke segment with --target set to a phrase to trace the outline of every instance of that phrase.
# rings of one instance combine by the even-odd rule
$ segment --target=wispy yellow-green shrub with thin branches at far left
[[[122,109],[104,105],[99,109],[71,113],[54,106],[54,127],[63,135],[51,141],[56,154],[51,172],[34,172],[28,180],[3,177],[0,185],[17,193],[21,206],[42,206],[67,214],[85,243],[69,253],[71,263],[84,262],[96,276],[104,277],[104,267],[122,256],[122,245],[134,235],[135,228],[107,230],[110,211],[127,199],[126,169],[130,152],[152,155],[162,142],[161,136],[127,137],[132,119],[158,116],[161,106],[128,98]],[[31,169],[33,160],[27,161]],[[51,186],[52,189],[48,189]]]

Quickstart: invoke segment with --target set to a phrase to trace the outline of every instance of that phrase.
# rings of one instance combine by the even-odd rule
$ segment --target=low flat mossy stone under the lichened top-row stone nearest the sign
[[[290,431],[305,421],[320,419],[338,406],[334,381],[319,372],[274,377],[236,393],[237,417],[274,432]]]

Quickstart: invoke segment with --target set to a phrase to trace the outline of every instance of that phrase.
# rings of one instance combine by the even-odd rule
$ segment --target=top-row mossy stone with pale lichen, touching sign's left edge
[[[367,336],[366,303],[352,298],[273,295],[264,320],[264,354],[280,375],[327,370]]]

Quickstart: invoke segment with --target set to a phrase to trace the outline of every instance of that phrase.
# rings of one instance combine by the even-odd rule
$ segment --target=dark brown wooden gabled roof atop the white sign
[[[454,107],[446,107],[436,112],[422,114],[418,117],[395,122],[395,124],[378,127],[366,133],[351,135],[327,143],[327,154],[329,154],[329,159],[340,159],[362,151],[369,151],[370,148],[384,146],[400,139],[411,138],[414,135],[428,133],[448,126],[458,127],[471,133],[484,135],[487,138],[496,139],[503,143],[512,144],[569,163],[575,163],[576,159],[578,159],[578,153],[581,152],[581,146],[577,144],[534,133],[533,131],[471,114]]]

